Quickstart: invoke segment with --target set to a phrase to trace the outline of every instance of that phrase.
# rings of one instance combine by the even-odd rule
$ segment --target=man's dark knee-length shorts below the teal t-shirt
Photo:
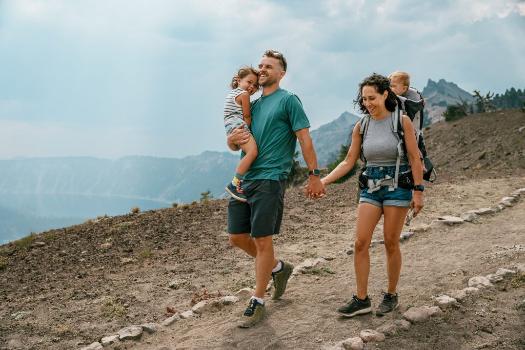
[[[230,198],[228,233],[251,237],[277,235],[281,227],[286,180],[245,180],[246,202]]]

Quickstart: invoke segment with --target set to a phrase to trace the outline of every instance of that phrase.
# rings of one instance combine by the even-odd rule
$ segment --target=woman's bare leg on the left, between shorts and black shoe
[[[383,209],[370,203],[361,203],[358,208],[358,218],[355,227],[354,270],[359,299],[368,295],[368,275],[370,273],[370,256],[368,248],[372,234]]]

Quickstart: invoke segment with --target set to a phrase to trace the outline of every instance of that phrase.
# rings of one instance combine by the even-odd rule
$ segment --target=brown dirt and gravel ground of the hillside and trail
[[[499,113],[430,126],[427,146],[439,179],[427,186],[426,207],[411,226],[497,204],[525,187],[525,135],[518,131],[525,113]],[[318,201],[288,190],[277,256],[298,265],[351,247],[355,184],[351,178],[331,185],[328,197]],[[125,326],[162,322],[173,314],[166,307],[185,312],[199,300],[253,286],[253,260],[228,244],[226,209],[227,202],[217,200],[99,218],[0,247],[0,348],[79,349]],[[353,257],[338,254],[292,279],[282,300],[268,301],[257,327],[236,327],[246,307],[241,301],[110,348],[318,349],[402,319],[412,305],[433,305],[436,296],[467,287],[471,277],[525,263],[524,231],[522,198],[476,224],[418,232],[401,246],[400,309],[383,318],[344,319],[334,312],[355,293]],[[373,239],[381,239],[381,232],[380,222]],[[370,252],[375,306],[386,288],[384,247]],[[525,348],[524,302],[523,285],[506,279],[468,295],[439,319],[365,347]]]

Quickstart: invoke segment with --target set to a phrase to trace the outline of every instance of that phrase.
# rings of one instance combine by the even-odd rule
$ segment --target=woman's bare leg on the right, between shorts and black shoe
[[[396,295],[397,282],[401,272],[401,250],[399,237],[408,213],[407,207],[383,206],[385,215],[383,235],[386,250],[386,274],[388,277],[387,293]]]

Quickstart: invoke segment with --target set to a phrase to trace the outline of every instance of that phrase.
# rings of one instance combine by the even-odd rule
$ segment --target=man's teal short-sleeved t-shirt
[[[244,179],[287,178],[297,144],[295,132],[310,128],[301,101],[295,94],[279,88],[251,102],[251,117],[250,129],[258,155]],[[242,152],[241,158],[244,156]]]

